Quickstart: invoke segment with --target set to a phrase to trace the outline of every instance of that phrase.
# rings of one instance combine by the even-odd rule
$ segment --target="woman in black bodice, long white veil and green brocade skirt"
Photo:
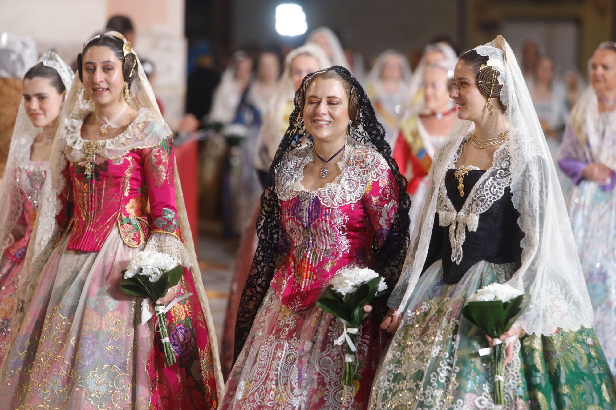
[[[477,289],[500,282],[530,294],[529,307],[500,337],[513,337],[504,408],[612,409],[614,381],[516,58],[498,36],[464,53],[454,78],[461,121],[434,156],[434,183],[381,324],[397,330],[370,408],[494,408],[493,361],[477,352],[492,341],[461,310]]]

